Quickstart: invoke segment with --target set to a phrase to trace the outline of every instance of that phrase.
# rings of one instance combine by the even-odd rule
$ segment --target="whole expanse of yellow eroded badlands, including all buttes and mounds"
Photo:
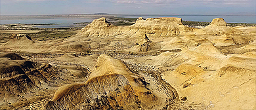
[[[256,109],[255,29],[100,18],[62,41],[12,35],[0,46],[0,109]]]

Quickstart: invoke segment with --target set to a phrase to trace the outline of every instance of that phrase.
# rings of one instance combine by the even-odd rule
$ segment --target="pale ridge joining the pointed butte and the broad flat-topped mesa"
[[[91,24],[83,27],[76,35],[83,37],[138,37],[147,33],[150,37],[164,37],[184,35],[188,31],[193,31],[191,27],[182,24],[181,18],[138,18],[132,26],[117,27],[106,21],[106,18],[93,20]],[[81,37],[82,38],[82,37]],[[71,38],[70,40],[75,40]]]

